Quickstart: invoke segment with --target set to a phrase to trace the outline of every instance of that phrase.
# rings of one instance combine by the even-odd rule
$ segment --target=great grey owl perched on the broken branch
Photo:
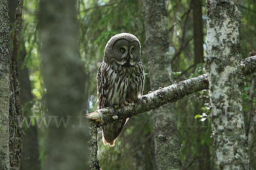
[[[108,41],[97,72],[99,108],[113,105],[124,107],[134,102],[141,98],[144,84],[140,41],[133,34],[116,34]],[[127,120],[102,125],[102,142],[114,146]]]

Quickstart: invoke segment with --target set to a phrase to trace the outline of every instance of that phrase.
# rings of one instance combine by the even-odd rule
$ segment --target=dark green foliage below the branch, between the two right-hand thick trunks
[[[208,91],[197,92],[177,102],[178,130],[184,166],[194,161],[189,169],[196,169],[202,161],[207,162],[207,164],[201,164],[202,169],[214,167],[213,162],[210,161],[213,152],[210,120],[207,116],[208,105]],[[199,121],[198,118],[200,118]]]

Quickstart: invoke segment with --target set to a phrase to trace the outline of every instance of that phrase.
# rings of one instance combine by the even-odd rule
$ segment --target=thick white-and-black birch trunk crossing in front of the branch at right
[[[213,148],[220,170],[249,170],[239,66],[238,0],[207,0],[207,69]]]

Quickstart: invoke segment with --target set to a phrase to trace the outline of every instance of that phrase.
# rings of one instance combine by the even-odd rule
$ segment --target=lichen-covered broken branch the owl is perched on
[[[256,72],[256,56],[243,59],[240,65],[244,76]],[[102,125],[102,123],[108,124],[115,120],[126,119],[159,108],[169,102],[176,102],[184,96],[208,89],[208,85],[208,75],[203,74],[181,82],[175,82],[165,88],[159,88],[156,91],[142,96],[142,99],[131,103],[127,107],[119,108],[118,106],[111,106],[99,109],[93,113],[87,114],[87,118],[95,120],[98,122],[98,125]]]

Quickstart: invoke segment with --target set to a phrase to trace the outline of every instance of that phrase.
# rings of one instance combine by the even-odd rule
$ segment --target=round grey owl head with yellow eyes
[[[140,41],[133,34],[116,34],[108,41],[104,52],[104,62],[132,66],[140,61]]]

